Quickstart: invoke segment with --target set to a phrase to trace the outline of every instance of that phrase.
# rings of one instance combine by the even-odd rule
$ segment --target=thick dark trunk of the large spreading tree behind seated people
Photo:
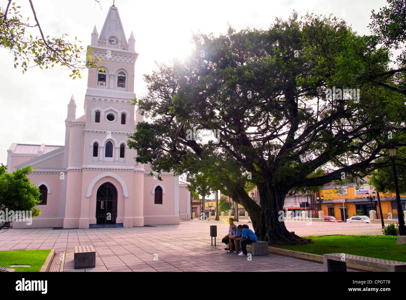
[[[258,185],[261,197],[259,215],[252,215],[255,234],[271,244],[307,244],[308,240],[289,232],[285,227],[283,204],[287,191],[278,186]]]

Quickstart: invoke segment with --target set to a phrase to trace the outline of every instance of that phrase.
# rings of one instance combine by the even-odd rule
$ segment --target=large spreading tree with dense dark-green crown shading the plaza
[[[190,59],[145,75],[148,93],[134,103],[153,122],[138,123],[128,141],[136,161],[157,172],[205,170],[248,211],[260,240],[306,243],[278,221],[289,191],[387,165],[375,162],[389,144],[383,119],[400,125],[406,111],[402,83],[387,74],[389,50],[344,21],[296,13],[269,30],[229,28],[194,42]],[[387,75],[378,84],[374,74]],[[328,89],[354,93],[329,98]],[[191,138],[194,128],[220,130],[219,142]]]

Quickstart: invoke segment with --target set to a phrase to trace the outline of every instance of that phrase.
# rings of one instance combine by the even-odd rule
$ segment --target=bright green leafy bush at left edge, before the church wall
[[[36,208],[39,204],[40,192],[38,187],[31,185],[27,177],[32,171],[30,166],[7,173],[7,166],[0,165],[0,211],[32,211],[32,217],[37,217],[41,211]],[[12,221],[12,220],[11,220]],[[4,228],[10,220],[1,225]]]

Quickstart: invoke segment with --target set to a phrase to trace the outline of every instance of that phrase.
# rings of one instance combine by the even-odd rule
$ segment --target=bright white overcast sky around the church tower
[[[5,7],[6,0],[0,0]],[[34,18],[27,0],[15,0],[22,6],[23,17]],[[90,44],[94,25],[100,34],[112,0],[101,0],[102,9],[93,0],[43,1],[34,0],[37,17],[45,35],[60,37],[62,33],[75,36],[83,46]],[[358,34],[369,34],[367,25],[371,10],[387,5],[384,0],[251,0],[251,1],[130,1],[116,0],[121,22],[128,39],[131,31],[139,53],[135,65],[135,93],[145,93],[142,75],[155,68],[154,61],[183,59],[192,49],[192,33],[224,34],[227,22],[236,30],[246,28],[267,29],[275,17],[287,18],[292,10],[304,15],[334,13],[342,17]],[[38,35],[37,31],[32,31]],[[33,34],[34,35],[34,34]],[[84,93],[87,71],[82,79],[72,80],[71,71],[39,70],[33,68],[22,74],[14,69],[13,57],[0,50],[0,163],[6,163],[11,143],[63,145],[65,118],[71,95],[76,100],[76,117],[84,114]]]

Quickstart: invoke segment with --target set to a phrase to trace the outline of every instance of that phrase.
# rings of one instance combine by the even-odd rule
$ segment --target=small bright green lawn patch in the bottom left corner
[[[15,272],[39,272],[51,250],[0,251],[0,267],[30,265],[29,268],[13,268]]]

